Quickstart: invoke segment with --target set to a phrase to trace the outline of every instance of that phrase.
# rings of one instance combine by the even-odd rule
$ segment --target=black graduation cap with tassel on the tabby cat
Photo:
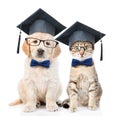
[[[90,41],[93,45],[98,42],[105,34],[94,30],[91,27],[88,27],[80,22],[74,23],[71,27],[69,27],[65,32],[63,32],[60,36],[56,38],[56,40],[69,45],[71,45],[76,41]],[[102,58],[102,42],[101,42],[101,60]]]

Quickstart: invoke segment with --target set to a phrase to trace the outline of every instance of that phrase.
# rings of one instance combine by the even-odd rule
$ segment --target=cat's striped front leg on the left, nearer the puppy
[[[68,86],[68,95],[70,98],[70,108],[71,112],[75,112],[78,107],[78,89],[75,82],[70,82]]]

